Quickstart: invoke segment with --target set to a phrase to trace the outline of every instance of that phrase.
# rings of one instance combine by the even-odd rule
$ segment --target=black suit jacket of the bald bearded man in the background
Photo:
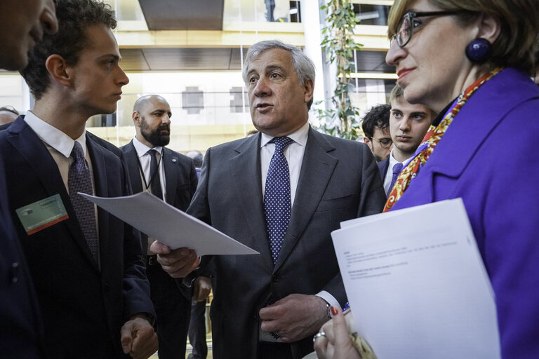
[[[133,140],[123,147],[120,147],[124,154],[124,161],[127,166],[133,193],[145,190],[140,169],[138,167],[138,156]],[[173,205],[179,210],[186,211],[191,203],[191,198],[199,183],[197,171],[194,169],[193,160],[178,152],[163,147],[163,165],[165,167],[166,182],[166,203]],[[142,233],[142,251],[146,253],[148,237]]]

